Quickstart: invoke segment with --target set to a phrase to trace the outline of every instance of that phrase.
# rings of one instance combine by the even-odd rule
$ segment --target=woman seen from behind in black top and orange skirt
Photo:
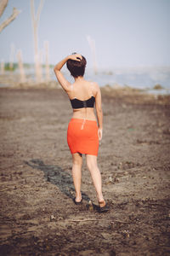
[[[75,82],[71,84],[60,72],[65,65],[69,69]],[[72,177],[76,190],[75,204],[82,203],[82,154],[86,154],[87,166],[91,173],[94,187],[99,201],[99,212],[107,211],[102,195],[101,175],[97,165],[99,140],[102,139],[103,113],[101,108],[101,94],[99,85],[83,78],[86,59],[82,55],[73,54],[54,67],[54,73],[62,88],[68,94],[73,108],[72,119],[68,125],[67,143],[72,154]],[[98,124],[94,114],[96,107]]]

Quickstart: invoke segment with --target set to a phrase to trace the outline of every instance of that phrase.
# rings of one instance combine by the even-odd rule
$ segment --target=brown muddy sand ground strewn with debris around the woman
[[[75,206],[59,89],[0,89],[0,255],[170,255],[170,98],[102,90],[99,214],[82,168]],[[94,207],[88,207],[88,201]]]

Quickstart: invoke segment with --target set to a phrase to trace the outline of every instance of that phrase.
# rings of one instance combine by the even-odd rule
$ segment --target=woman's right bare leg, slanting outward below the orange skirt
[[[104,197],[102,195],[101,174],[99,172],[99,168],[98,168],[98,164],[97,164],[97,156],[87,154],[86,160],[87,160],[88,170],[91,173],[91,176],[92,176],[92,179],[94,182],[94,187],[97,192],[98,201],[102,202],[102,201],[104,201]]]

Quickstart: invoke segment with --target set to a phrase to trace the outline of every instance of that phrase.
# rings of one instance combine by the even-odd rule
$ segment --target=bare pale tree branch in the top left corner
[[[0,2],[0,17],[3,15],[3,12],[5,8],[7,7],[8,0],[1,0]],[[12,15],[8,17],[7,20],[4,20],[3,23],[0,25],[0,32],[3,31],[3,28],[8,26],[9,23],[11,23],[18,15],[20,14],[20,11],[16,8],[13,9]]]

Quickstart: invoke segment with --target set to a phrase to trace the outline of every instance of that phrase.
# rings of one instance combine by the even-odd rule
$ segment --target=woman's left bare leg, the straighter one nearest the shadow
[[[76,190],[76,201],[82,200],[81,181],[82,181],[82,154],[72,154],[72,178]]]

